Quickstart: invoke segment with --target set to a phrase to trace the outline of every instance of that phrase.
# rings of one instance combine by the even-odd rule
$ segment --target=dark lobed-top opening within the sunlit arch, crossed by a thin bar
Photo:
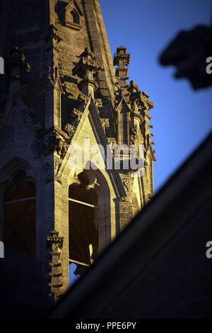
[[[98,196],[85,173],[78,180],[69,186],[69,262],[77,265],[76,275],[93,264],[99,247]]]

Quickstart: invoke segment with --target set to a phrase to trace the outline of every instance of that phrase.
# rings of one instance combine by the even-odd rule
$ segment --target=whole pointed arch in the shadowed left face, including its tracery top
[[[18,157],[0,172],[1,238],[5,247],[36,254],[35,177],[30,164]]]

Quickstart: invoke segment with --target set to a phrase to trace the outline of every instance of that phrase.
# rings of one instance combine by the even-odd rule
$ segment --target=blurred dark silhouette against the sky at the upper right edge
[[[206,72],[208,57],[212,57],[212,28],[196,26],[172,40],[160,55],[160,64],[174,65],[177,79],[187,78],[194,89],[201,89],[212,84],[212,74]]]

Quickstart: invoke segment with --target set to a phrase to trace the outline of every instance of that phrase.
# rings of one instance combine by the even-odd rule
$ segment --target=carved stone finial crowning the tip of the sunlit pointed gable
[[[94,54],[86,47],[81,55],[81,60],[72,70],[73,75],[77,75],[82,79],[78,84],[78,89],[83,94],[94,97],[94,91],[98,89],[98,83],[94,80],[97,74],[103,70],[101,62],[93,60]]]

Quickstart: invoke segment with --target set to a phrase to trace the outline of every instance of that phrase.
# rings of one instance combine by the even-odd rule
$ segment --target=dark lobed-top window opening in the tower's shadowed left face
[[[25,176],[18,169],[4,189],[3,239],[5,248],[35,255],[35,185]]]

